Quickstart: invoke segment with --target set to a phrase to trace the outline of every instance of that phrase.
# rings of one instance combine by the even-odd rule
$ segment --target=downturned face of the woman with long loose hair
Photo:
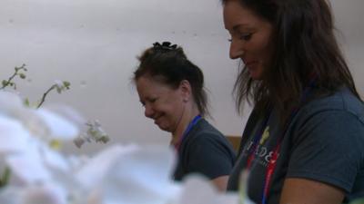
[[[238,0],[224,5],[224,24],[230,39],[230,58],[240,58],[254,80],[262,80],[272,56],[272,24]]]

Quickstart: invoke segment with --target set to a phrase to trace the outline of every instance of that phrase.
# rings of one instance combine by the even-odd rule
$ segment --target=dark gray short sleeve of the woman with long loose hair
[[[345,111],[319,112],[298,123],[288,178],[318,180],[349,192],[364,159],[364,124]]]

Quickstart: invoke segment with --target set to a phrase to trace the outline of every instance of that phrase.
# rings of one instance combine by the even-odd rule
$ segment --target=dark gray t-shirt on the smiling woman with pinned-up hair
[[[235,152],[224,135],[205,119],[201,119],[181,143],[174,179],[182,180],[190,173],[199,173],[211,180],[229,175],[235,157]]]

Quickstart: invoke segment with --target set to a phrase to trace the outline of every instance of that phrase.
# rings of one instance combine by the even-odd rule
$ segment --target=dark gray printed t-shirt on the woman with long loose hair
[[[252,140],[262,121],[255,112],[250,116],[227,189],[238,189],[239,174],[246,168]],[[282,134],[273,110],[248,177],[248,196],[257,203],[262,199],[268,161]],[[281,142],[267,203],[279,203],[286,178],[336,186],[346,192],[344,202],[364,197],[364,105],[347,89],[308,102],[291,120]]]

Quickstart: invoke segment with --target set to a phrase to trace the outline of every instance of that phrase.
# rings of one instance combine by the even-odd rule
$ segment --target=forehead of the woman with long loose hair
[[[240,27],[253,28],[268,23],[253,10],[239,3],[238,0],[227,1],[224,4],[223,15],[225,28],[229,31]]]

